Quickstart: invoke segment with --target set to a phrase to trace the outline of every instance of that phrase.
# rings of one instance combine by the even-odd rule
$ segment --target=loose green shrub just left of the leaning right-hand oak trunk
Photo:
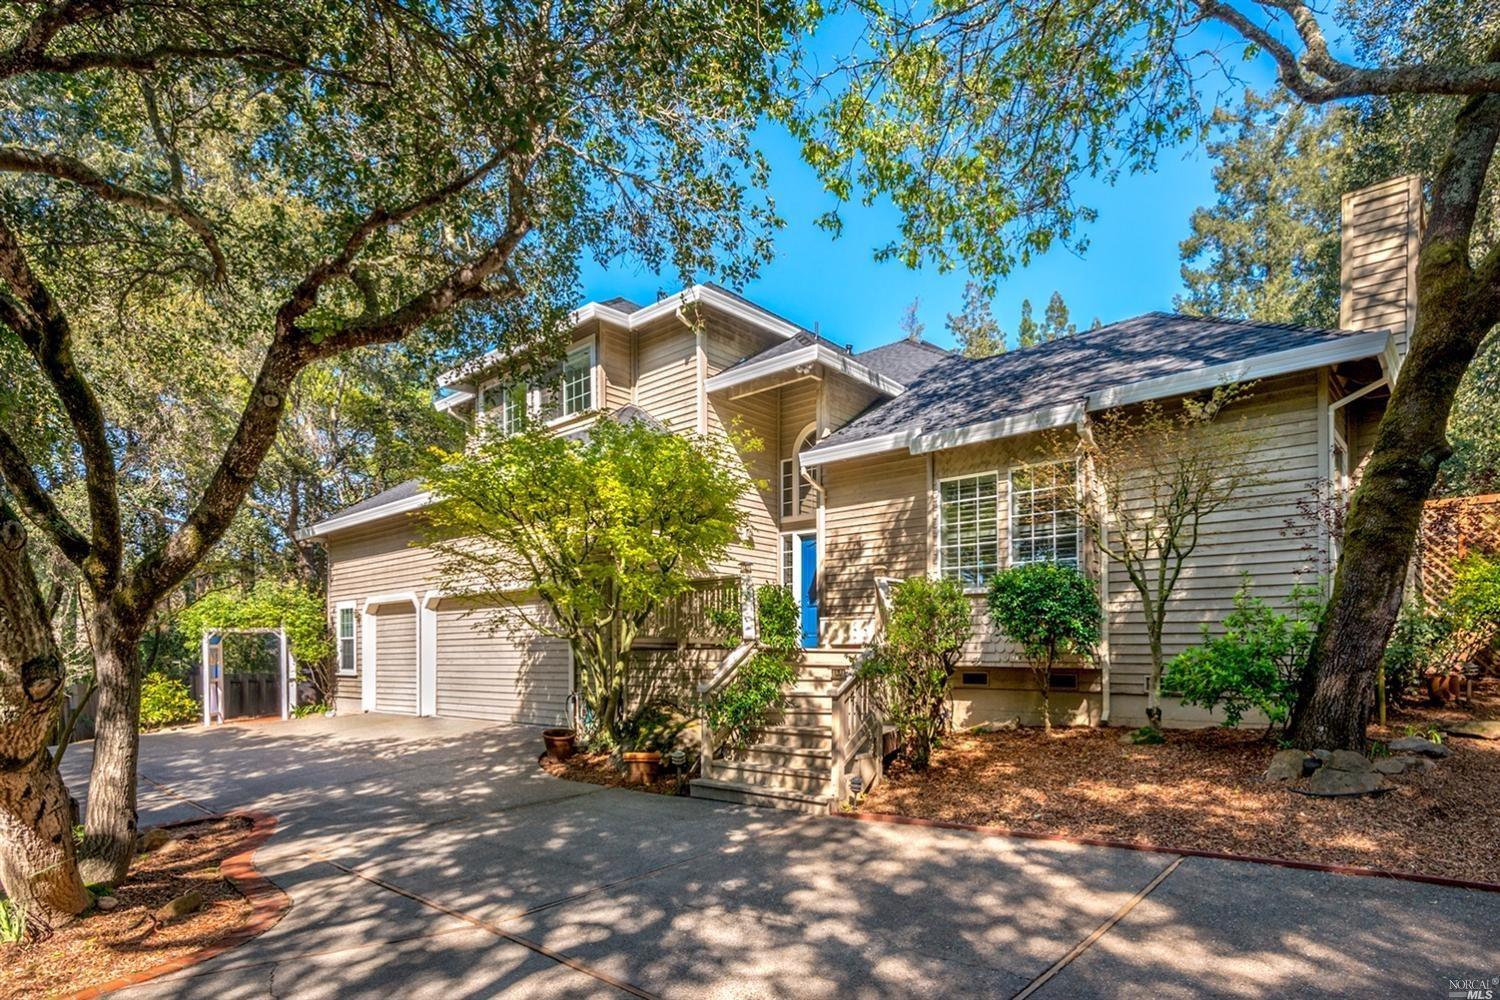
[[[1172,658],[1162,687],[1176,691],[1184,705],[1222,709],[1224,726],[1239,726],[1246,712],[1258,711],[1269,736],[1292,718],[1302,667],[1323,618],[1323,595],[1316,586],[1294,586],[1287,597],[1290,612],[1276,612],[1251,595],[1250,586],[1246,577],[1221,636],[1204,625],[1203,645]]]

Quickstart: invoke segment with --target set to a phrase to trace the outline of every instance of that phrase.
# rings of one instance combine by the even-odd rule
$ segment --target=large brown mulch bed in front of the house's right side
[[[1500,717],[1485,714],[1478,691],[1474,702],[1460,715]],[[1425,729],[1438,711],[1454,712],[1400,712],[1371,736]],[[1500,883],[1500,741],[1450,736],[1452,756],[1388,778],[1394,789],[1384,795],[1316,799],[1262,778],[1276,747],[1256,732],[1176,730],[1156,747],[1122,744],[1124,732],[956,735],[927,775],[897,763],[860,808]]]

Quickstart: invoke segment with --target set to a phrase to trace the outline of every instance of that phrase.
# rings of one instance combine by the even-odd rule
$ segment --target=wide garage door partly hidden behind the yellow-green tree
[[[494,609],[459,601],[438,606],[438,715],[561,724],[570,679],[567,643],[524,625],[496,630],[494,621]]]

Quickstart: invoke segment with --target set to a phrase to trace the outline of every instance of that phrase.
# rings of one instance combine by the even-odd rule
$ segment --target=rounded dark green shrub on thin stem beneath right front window
[[[1072,567],[1030,562],[990,580],[990,619],[1014,639],[1041,691],[1041,723],[1052,732],[1052,670],[1059,657],[1088,655],[1100,642],[1100,595]]]

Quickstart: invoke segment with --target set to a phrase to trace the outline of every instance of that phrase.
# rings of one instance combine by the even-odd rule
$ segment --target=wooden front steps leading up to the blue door
[[[708,777],[688,786],[693,798],[828,813],[834,789],[834,693],[852,654],[804,649],[786,706],[766,720],[756,742],[712,760]]]

